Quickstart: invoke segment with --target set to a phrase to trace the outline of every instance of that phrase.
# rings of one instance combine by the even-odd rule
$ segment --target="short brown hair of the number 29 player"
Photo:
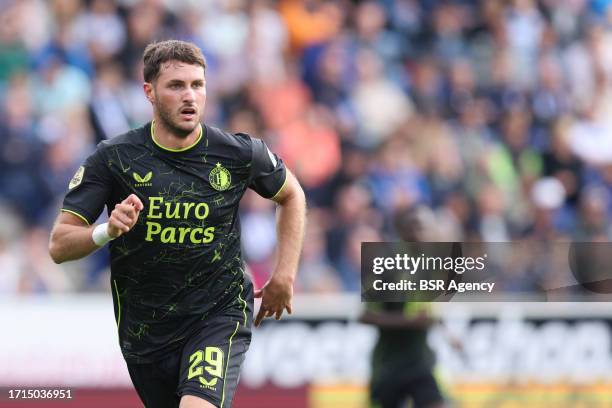
[[[167,40],[147,45],[143,57],[144,80],[154,81],[164,62],[176,60],[185,64],[199,65],[206,72],[206,58],[200,48],[190,42],[180,40]]]

